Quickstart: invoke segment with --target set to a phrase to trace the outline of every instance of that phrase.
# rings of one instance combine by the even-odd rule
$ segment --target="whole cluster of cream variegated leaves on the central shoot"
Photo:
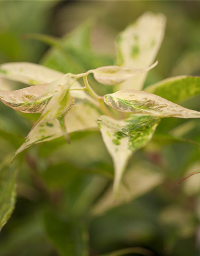
[[[0,91],[0,100],[16,111],[41,113],[14,157],[33,144],[60,136],[70,143],[71,132],[99,127],[119,192],[128,160],[151,140],[161,118],[200,118],[200,112],[177,104],[200,94],[199,77],[169,78],[142,90],[147,72],[158,64],[154,59],[165,23],[163,14],[147,12],[130,24],[117,36],[114,66],[63,74],[31,63],[2,64],[0,78],[30,87]],[[113,93],[98,95],[88,82],[90,74],[102,87],[112,86]]]

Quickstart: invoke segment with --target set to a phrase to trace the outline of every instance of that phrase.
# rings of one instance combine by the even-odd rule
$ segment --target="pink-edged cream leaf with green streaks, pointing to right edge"
[[[200,118],[200,112],[170,102],[160,96],[138,91],[122,90],[107,94],[104,102],[119,111],[158,117]]]

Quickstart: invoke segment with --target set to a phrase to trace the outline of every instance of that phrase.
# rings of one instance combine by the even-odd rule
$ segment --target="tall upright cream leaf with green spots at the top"
[[[164,37],[166,18],[163,14],[146,12],[121,32],[116,40],[119,66],[142,69],[150,66]],[[120,90],[141,90],[147,73],[126,80]]]

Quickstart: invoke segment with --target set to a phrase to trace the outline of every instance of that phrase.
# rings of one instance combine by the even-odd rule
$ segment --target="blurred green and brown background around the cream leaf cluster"
[[[159,64],[145,86],[170,76],[200,75],[200,1],[192,0],[3,0],[0,63],[34,62],[74,73],[110,65],[116,34],[146,11],[164,13],[167,26]],[[74,30],[80,38],[91,30],[89,49],[78,36],[73,39]],[[64,36],[68,55],[24,39],[27,33]],[[2,90],[18,86],[0,80]],[[199,100],[193,98],[184,106],[200,110]],[[23,142],[36,117],[0,102],[2,163]],[[163,119],[158,132],[200,142],[199,120]],[[155,134],[130,161],[124,177],[128,192],[122,188],[114,200],[112,161],[100,132],[70,137],[72,145],[59,138],[22,154],[16,208],[0,233],[1,256],[97,256],[129,247],[138,248],[129,255],[200,255],[200,176],[178,185],[200,168],[198,147]]]

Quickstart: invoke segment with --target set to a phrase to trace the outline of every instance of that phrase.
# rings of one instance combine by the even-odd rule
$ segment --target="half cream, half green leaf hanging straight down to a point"
[[[160,119],[152,116],[132,116],[125,120],[115,120],[101,116],[96,122],[114,162],[114,190],[117,191],[132,152],[149,142]]]

